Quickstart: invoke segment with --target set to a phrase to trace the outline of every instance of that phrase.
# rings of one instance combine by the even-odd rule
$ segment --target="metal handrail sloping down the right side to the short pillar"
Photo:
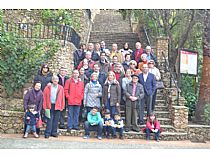
[[[173,80],[173,82],[175,84],[175,87],[176,87],[176,90],[177,90],[177,93],[178,93],[178,95],[177,95],[177,106],[178,106],[179,105],[179,94],[181,93],[181,89],[179,88],[179,86],[177,84],[177,81],[175,80],[174,74],[173,74],[171,68],[169,67],[169,62],[166,59],[166,56],[165,56],[164,52],[162,51],[161,53],[162,53],[163,58],[165,60],[166,70],[170,73],[170,88],[172,87],[171,80]]]

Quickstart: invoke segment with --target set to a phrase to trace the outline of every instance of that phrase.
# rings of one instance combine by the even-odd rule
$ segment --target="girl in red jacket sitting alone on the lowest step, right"
[[[154,113],[151,113],[146,123],[146,138],[150,140],[150,133],[155,133],[155,140],[159,142],[159,135],[161,132],[160,123],[158,122]]]

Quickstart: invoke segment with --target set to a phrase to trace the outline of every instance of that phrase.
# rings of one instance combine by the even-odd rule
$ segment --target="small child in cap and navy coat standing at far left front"
[[[28,137],[28,133],[30,129],[32,130],[34,137],[39,138],[38,134],[36,133],[36,122],[39,119],[39,114],[35,111],[35,105],[29,105],[28,110],[25,114],[25,124],[26,124],[26,132],[23,138]]]

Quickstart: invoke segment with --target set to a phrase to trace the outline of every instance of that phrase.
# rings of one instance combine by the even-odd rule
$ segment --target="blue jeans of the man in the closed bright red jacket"
[[[79,111],[80,111],[80,106],[77,105],[68,106],[68,129],[79,128]]]

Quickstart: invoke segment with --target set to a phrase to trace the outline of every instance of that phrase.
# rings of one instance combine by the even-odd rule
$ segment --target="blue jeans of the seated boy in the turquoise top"
[[[85,121],[85,135],[90,135],[90,131],[97,131],[97,136],[102,136],[103,124],[99,122],[98,125],[91,125],[88,121]]]

